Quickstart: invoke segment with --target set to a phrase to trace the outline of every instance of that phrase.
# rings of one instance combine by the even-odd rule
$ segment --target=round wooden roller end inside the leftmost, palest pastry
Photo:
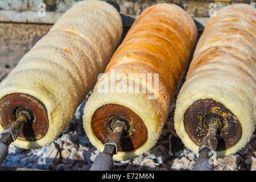
[[[15,121],[15,112],[20,106],[28,107],[34,113],[34,118],[32,121],[25,123],[18,139],[34,141],[43,138],[49,128],[46,106],[37,98],[28,94],[13,93],[0,100],[1,125],[6,128],[11,121]]]

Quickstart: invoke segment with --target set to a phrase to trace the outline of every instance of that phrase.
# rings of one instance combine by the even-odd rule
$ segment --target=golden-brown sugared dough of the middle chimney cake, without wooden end
[[[135,20],[122,44],[115,51],[106,68],[106,75],[98,80],[92,95],[89,97],[84,110],[84,128],[90,142],[99,150],[104,145],[94,135],[91,121],[95,111],[106,104],[118,104],[129,107],[147,127],[148,139],[139,148],[129,151],[119,151],[114,155],[115,160],[126,160],[150,150],[158,140],[166,122],[170,102],[180,78],[187,66],[189,55],[195,45],[197,29],[193,19],[179,6],[160,3],[144,10]],[[112,71],[122,76],[115,80],[117,86],[127,83],[127,77],[133,79],[132,89],[150,88],[148,80],[139,81],[138,76],[131,73],[152,73],[152,89],[146,93],[111,92],[100,93],[98,88],[102,83],[109,82]],[[159,89],[154,87],[154,73],[159,75]],[[128,87],[128,86],[127,86]],[[117,89],[117,88],[115,88]],[[153,93],[157,98],[149,99]],[[136,132],[136,131],[135,131]]]

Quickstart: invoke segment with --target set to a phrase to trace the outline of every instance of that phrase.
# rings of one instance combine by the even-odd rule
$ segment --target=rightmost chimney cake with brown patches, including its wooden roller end
[[[175,129],[194,152],[217,118],[217,156],[233,154],[255,129],[256,10],[226,6],[205,26],[176,101]]]

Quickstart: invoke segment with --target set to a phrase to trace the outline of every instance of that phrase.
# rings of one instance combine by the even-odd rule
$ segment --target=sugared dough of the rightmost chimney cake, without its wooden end
[[[175,129],[185,146],[197,146],[184,129],[185,111],[193,102],[210,98],[228,108],[242,126],[240,141],[217,156],[237,152],[255,128],[256,10],[245,4],[226,6],[205,26],[192,63],[177,97]]]

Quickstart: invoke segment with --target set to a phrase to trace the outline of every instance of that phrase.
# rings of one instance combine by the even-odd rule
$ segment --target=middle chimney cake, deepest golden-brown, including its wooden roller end
[[[143,11],[86,103],[84,129],[94,146],[104,150],[116,120],[128,123],[128,130],[115,160],[134,158],[154,146],[196,38],[193,19],[179,6],[160,3]]]

